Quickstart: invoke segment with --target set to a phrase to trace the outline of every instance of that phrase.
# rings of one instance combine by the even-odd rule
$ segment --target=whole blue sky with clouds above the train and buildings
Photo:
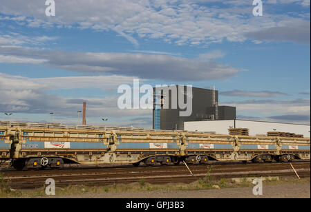
[[[237,118],[310,125],[310,0],[262,5],[55,0],[48,17],[45,0],[1,0],[0,120],[78,125],[86,101],[88,125],[152,128],[151,109],[117,107],[139,79],[215,86]]]

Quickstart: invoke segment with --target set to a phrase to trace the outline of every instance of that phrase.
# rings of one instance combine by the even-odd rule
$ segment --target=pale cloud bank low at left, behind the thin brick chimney
[[[140,116],[151,114],[150,110],[121,110],[117,108],[117,86],[122,83],[133,83],[132,78],[120,76],[78,76],[59,78],[26,78],[0,73],[0,111],[27,114],[48,114],[75,117],[81,109],[82,102],[88,104],[88,117]],[[48,94],[51,89],[112,89],[115,95],[102,98],[63,97]]]

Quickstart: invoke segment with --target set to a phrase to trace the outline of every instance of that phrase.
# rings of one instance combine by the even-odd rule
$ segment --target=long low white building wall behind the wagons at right
[[[216,134],[229,134],[229,127],[234,127],[234,120],[210,120],[185,122],[185,130],[189,131],[216,131]],[[268,131],[283,131],[294,134],[303,134],[310,138],[310,125],[295,125],[287,123],[270,123],[253,120],[236,120],[236,128],[248,128],[249,136],[267,134]]]

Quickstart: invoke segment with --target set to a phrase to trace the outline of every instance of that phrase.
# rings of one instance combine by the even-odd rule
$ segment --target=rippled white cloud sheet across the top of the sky
[[[247,33],[290,27],[303,20],[287,14],[265,12],[258,21],[258,17],[252,16],[252,1],[223,1],[224,7],[216,7],[213,3],[218,1],[67,0],[57,1],[56,16],[48,18],[44,14],[46,6],[41,0],[2,0],[0,12],[15,15],[8,19],[24,22],[28,27],[113,30],[136,47],[139,45],[137,36],[162,39],[176,45],[207,45],[224,40],[241,42],[247,39]],[[265,6],[273,3],[310,6],[310,0],[268,1]],[[292,25],[282,23],[288,19],[292,20]]]

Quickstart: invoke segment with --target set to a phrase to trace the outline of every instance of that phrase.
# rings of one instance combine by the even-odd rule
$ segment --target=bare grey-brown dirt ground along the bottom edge
[[[263,185],[263,195],[253,195],[252,187],[196,191],[131,191],[84,193],[57,198],[310,198],[310,183]]]

